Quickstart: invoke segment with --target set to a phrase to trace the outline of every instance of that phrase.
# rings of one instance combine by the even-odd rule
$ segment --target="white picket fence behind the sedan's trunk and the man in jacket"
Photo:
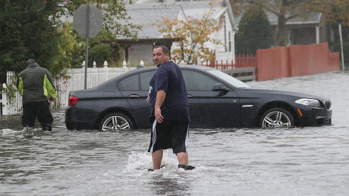
[[[95,87],[111,78],[136,69],[135,67],[103,67],[103,68],[87,68],[87,88]],[[67,73],[70,78],[53,78],[54,85],[59,91],[57,92],[57,98],[51,102],[51,108],[64,108],[68,106],[69,92],[74,90],[84,89],[85,69],[74,68],[67,69]],[[7,85],[15,86],[17,76],[14,71],[7,72]],[[10,78],[15,77],[15,80]],[[14,84],[13,84],[14,83]],[[18,114],[22,113],[22,96],[16,91],[13,104],[8,103],[6,93],[1,93],[0,100],[1,114]]]

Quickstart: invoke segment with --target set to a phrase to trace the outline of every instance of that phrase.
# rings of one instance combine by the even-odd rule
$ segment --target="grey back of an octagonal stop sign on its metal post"
[[[73,28],[85,38],[84,89],[87,89],[88,38],[95,37],[103,29],[103,15],[94,5],[81,5],[73,14]]]

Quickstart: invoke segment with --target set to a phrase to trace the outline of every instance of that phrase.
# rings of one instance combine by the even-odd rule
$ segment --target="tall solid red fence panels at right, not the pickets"
[[[326,42],[257,50],[256,57],[258,81],[339,70],[339,53]]]

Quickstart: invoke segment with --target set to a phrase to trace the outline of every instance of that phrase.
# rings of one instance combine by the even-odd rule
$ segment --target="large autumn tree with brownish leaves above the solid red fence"
[[[311,12],[324,13],[330,21],[334,18],[344,20],[349,17],[347,12],[349,0],[230,0],[230,2],[235,13],[251,5],[258,5],[265,11],[274,13],[278,18],[274,37],[276,46],[287,44],[286,22],[292,18],[306,18]]]

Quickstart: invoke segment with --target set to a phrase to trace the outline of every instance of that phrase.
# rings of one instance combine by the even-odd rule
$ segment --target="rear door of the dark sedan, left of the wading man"
[[[149,122],[150,107],[146,100],[149,91],[149,81],[154,73],[155,70],[145,71],[123,78],[118,82],[118,88],[132,107],[141,128],[151,126]]]

